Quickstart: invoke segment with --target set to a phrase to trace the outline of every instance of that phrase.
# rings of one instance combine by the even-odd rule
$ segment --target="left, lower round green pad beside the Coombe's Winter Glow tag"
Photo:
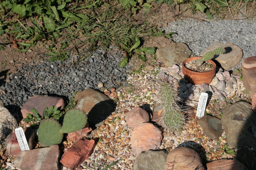
[[[60,123],[54,119],[44,119],[38,129],[38,140],[41,146],[60,144],[63,138]]]

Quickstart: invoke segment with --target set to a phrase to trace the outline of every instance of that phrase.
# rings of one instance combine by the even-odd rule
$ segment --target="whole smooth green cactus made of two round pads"
[[[80,130],[87,123],[86,114],[78,109],[68,110],[64,116],[63,125],[52,118],[44,119],[38,129],[38,140],[41,146],[60,144],[63,133],[70,133]]]

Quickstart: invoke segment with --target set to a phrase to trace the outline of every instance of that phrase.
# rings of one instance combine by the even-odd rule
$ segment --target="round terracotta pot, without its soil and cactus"
[[[201,85],[202,83],[210,84],[212,82],[212,78],[215,75],[216,72],[216,64],[212,61],[209,60],[208,62],[211,62],[213,65],[213,69],[211,71],[207,72],[196,72],[189,70],[185,67],[185,63],[188,63],[192,60],[200,59],[201,57],[190,57],[187,58],[182,62],[182,73],[184,74],[184,78],[188,80],[189,83],[194,84],[194,85]]]

